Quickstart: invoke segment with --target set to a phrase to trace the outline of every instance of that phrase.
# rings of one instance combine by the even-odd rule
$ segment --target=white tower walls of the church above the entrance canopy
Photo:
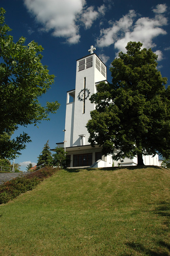
[[[101,70],[104,71],[101,73]],[[106,80],[106,66],[96,54],[93,53],[77,60],[76,88],[67,92],[65,116],[66,147],[89,144],[89,133],[85,126],[90,119],[90,111],[94,110],[95,106],[90,102],[90,97],[80,99],[79,93],[85,87],[89,90],[89,96],[91,96],[96,93],[96,83],[104,80]],[[87,93],[88,91],[86,91]],[[70,98],[73,102],[70,102]]]

